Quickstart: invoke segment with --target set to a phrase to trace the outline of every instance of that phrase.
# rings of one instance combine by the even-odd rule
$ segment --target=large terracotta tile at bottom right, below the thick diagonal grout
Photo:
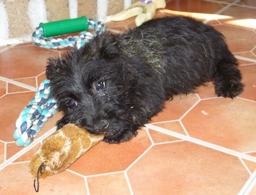
[[[134,194],[237,194],[250,177],[237,157],[187,141],[152,147],[127,175]]]

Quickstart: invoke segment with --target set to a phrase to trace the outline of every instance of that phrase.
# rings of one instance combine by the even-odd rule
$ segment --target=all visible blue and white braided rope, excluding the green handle
[[[38,33],[40,34],[39,37],[41,40],[34,44],[44,48],[83,47],[97,36],[97,34],[104,31],[104,24],[102,22],[89,19],[88,24],[94,31],[92,33],[81,32],[79,38],[74,38],[76,41],[74,41],[74,43],[68,43],[68,46],[67,44],[64,46],[62,43],[58,43],[54,38],[49,38],[47,41],[43,40],[44,37],[40,34],[42,32]],[[36,31],[33,32],[33,35],[36,34]],[[38,28],[38,32],[39,31],[41,31],[40,28]],[[33,39],[34,41],[36,40],[35,36],[33,36]],[[43,43],[43,45],[41,43]],[[35,97],[29,102],[28,106],[20,112],[19,118],[15,123],[13,138],[15,138],[16,144],[20,147],[28,146],[40,131],[40,128],[44,126],[45,122],[57,112],[57,108],[56,101],[51,98],[50,81],[45,79],[40,84],[40,87],[38,87]]]

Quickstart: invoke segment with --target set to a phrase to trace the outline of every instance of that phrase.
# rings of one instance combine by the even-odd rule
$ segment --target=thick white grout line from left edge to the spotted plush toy
[[[12,157],[10,157],[8,160],[4,161],[4,163],[0,164],[0,171],[3,170],[4,168],[6,168],[6,166],[10,165],[13,161],[15,161],[16,159],[18,159],[20,156],[24,155],[26,152],[28,152],[31,148],[35,147],[38,143],[40,143],[40,141],[44,140],[45,138],[47,138],[48,136],[50,136],[52,133],[54,133],[56,131],[56,127],[53,127],[52,129],[50,129],[49,131],[47,131],[45,134],[43,134],[42,136],[40,136],[40,138],[34,140],[30,145],[22,148],[22,150],[20,150],[19,152],[17,152],[16,154],[12,155]]]

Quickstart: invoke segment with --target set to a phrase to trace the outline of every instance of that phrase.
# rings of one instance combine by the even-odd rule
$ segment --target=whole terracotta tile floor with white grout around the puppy
[[[239,59],[246,85],[234,99],[212,83],[175,97],[128,143],[99,143],[68,170],[40,180],[38,194],[256,194],[256,3],[173,0],[156,17],[190,15],[214,25]],[[124,30],[134,18],[108,24]],[[161,29],[159,29],[161,31]],[[35,194],[28,164],[57,113],[28,147],[13,140],[15,120],[60,50],[31,43],[0,47],[0,194]]]

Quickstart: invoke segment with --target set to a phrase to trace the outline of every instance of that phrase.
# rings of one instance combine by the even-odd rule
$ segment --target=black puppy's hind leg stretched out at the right
[[[243,83],[241,83],[241,73],[237,69],[237,61],[230,52],[226,53],[216,69],[215,92],[218,96],[234,98],[243,92]]]

